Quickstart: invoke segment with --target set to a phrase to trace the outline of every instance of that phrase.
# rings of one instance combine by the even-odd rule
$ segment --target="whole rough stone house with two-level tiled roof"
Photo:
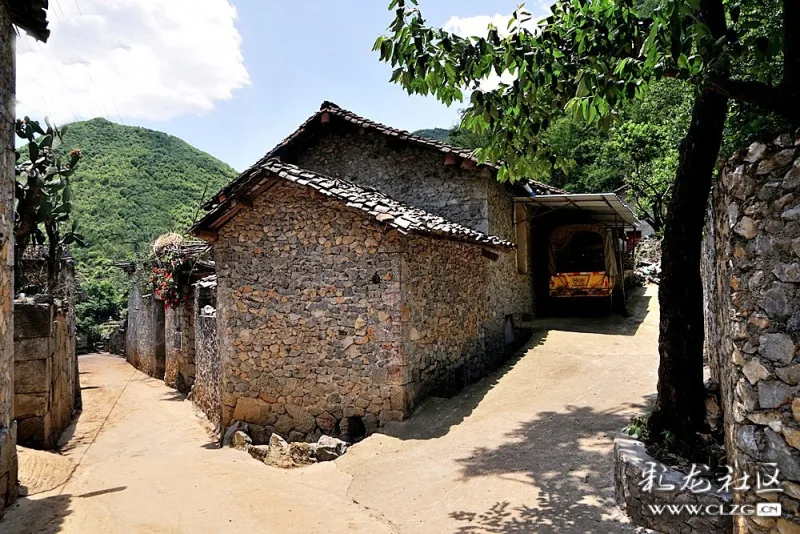
[[[408,416],[483,376],[531,314],[530,222],[469,151],[324,103],[217,193],[221,419],[291,439]]]

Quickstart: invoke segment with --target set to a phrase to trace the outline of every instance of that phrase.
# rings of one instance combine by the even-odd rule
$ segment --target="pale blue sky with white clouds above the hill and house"
[[[79,0],[77,9],[71,0],[51,2],[53,38],[44,46],[23,42],[18,53],[20,92],[28,97],[19,109],[62,122],[102,115],[165,131],[237,170],[291,133],[323,100],[407,130],[449,127],[457,120],[458,105],[408,96],[388,82],[391,68],[371,51],[391,21],[388,0],[233,0],[238,17],[220,27],[217,21],[230,6],[203,2],[189,4],[197,20],[180,27],[167,26],[172,15],[155,4],[148,12],[141,0],[114,13],[102,0]],[[538,3],[529,8],[541,15]],[[513,0],[421,2],[429,22],[455,21],[464,31],[485,28],[486,19],[475,17],[508,15],[516,6]],[[174,17],[183,21],[186,13]],[[94,42],[87,42],[89,34]],[[143,52],[136,56],[136,50]],[[47,68],[34,70],[42,61]],[[62,68],[63,76],[75,79],[60,94],[36,83],[41,70]]]

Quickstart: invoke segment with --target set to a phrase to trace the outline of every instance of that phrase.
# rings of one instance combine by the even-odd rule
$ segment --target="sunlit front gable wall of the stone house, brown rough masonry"
[[[403,416],[401,242],[289,183],[220,230],[224,425],[246,420],[299,440],[334,432],[344,417]]]

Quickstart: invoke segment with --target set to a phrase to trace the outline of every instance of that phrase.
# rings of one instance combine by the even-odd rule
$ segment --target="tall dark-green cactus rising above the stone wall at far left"
[[[28,142],[29,159],[20,161],[22,152],[15,151],[16,213],[14,220],[15,277],[17,287],[24,285],[22,257],[31,241],[38,245],[47,243],[47,290],[52,291],[58,281],[61,254],[65,246],[83,245],[83,237],[76,232],[72,214],[72,188],[69,177],[81,159],[80,150],[69,153],[62,162],[54,153],[54,143],[61,140],[60,131],[45,118],[47,130],[37,121],[25,117],[16,122],[17,136]],[[39,136],[37,139],[37,135]]]

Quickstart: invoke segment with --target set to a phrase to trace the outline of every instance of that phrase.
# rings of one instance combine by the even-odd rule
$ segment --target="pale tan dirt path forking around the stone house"
[[[0,532],[632,531],[611,499],[611,439],[655,390],[655,301],[649,289],[627,319],[539,323],[531,350],[495,375],[293,471],[213,449],[163,382],[81,357],[84,412],[60,467],[21,462],[40,489],[74,473],[21,499]]]

